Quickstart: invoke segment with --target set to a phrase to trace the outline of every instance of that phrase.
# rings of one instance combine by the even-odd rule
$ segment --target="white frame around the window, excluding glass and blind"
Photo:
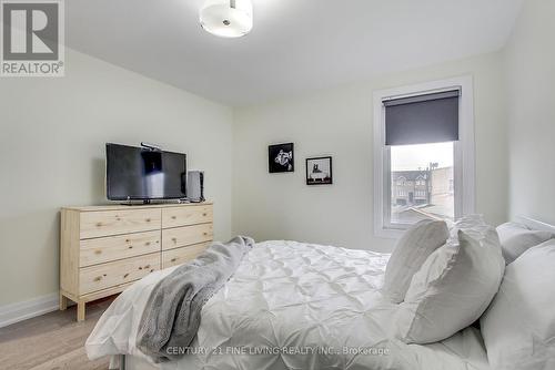
[[[454,142],[455,218],[475,209],[474,90],[471,75],[375,91],[374,106],[374,235],[398,238],[410,225],[391,224],[391,148],[385,145],[383,100],[461,89],[458,141]],[[458,191],[461,189],[461,191]]]

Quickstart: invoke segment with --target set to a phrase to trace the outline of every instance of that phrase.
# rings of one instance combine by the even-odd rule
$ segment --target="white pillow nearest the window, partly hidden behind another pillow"
[[[413,275],[435,249],[448,237],[443,220],[423,219],[408,228],[398,239],[387,261],[384,294],[395,304],[405,299]]]

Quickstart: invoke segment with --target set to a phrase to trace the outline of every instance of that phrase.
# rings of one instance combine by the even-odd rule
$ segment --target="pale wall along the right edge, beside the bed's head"
[[[511,215],[555,224],[555,1],[527,0],[505,51]]]

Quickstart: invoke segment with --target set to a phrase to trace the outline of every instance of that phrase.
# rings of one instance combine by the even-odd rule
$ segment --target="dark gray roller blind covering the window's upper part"
[[[458,140],[458,90],[391,99],[385,105],[385,145]]]

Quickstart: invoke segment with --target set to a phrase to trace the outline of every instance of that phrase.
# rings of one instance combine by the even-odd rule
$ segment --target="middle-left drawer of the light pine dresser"
[[[160,251],[160,237],[161,234],[157,230],[81,240],[79,266],[85,267]]]

